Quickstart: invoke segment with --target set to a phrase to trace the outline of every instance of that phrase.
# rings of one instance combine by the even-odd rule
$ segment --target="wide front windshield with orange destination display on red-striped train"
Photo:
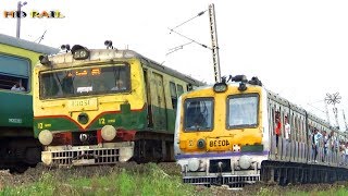
[[[40,98],[117,94],[130,90],[127,64],[99,65],[40,73]]]

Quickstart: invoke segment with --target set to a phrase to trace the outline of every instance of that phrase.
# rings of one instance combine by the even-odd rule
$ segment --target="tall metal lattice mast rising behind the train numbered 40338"
[[[213,64],[214,64],[214,78],[215,82],[221,82],[220,60],[219,60],[219,46],[217,46],[217,33],[215,22],[215,9],[214,4],[209,5],[209,20],[210,20],[210,34],[211,34],[211,48],[213,52]]]

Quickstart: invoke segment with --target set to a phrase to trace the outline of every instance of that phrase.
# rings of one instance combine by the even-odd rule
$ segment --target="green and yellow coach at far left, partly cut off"
[[[41,53],[54,52],[58,50],[0,34],[1,169],[23,172],[40,161],[41,145],[33,132],[32,71]]]

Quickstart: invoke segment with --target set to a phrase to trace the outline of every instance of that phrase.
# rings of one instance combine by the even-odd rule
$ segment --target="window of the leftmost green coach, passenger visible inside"
[[[16,57],[0,54],[0,88],[28,91],[29,61]],[[20,88],[22,86],[22,88]]]

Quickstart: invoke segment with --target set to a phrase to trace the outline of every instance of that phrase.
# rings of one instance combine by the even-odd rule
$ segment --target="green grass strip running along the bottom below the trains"
[[[88,171],[88,172],[87,172]],[[169,170],[171,172],[171,170]],[[232,193],[223,187],[206,188],[182,183],[182,176],[165,173],[154,163],[88,170],[46,170],[37,182],[21,186],[0,187],[0,196],[195,196],[195,195],[286,195],[286,196],[345,196],[347,183],[311,186],[251,186]]]

